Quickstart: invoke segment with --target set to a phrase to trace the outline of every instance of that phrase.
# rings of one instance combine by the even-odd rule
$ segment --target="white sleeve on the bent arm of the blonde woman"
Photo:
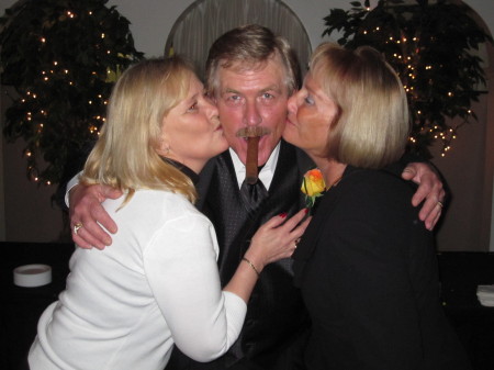
[[[204,362],[225,354],[238,338],[247,305],[221,289],[211,222],[201,214],[168,222],[143,258],[150,289],[180,350]]]

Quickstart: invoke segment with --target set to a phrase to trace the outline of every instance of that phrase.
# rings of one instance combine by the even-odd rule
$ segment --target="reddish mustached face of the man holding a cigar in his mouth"
[[[220,120],[229,146],[245,164],[247,139],[237,132],[248,126],[269,130],[259,139],[258,166],[266,164],[278,145],[287,120],[288,88],[285,69],[279,57],[270,58],[250,69],[234,64],[217,71],[218,91],[215,93]]]

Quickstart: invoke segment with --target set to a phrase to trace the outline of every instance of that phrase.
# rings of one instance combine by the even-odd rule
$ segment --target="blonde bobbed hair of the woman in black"
[[[378,51],[324,43],[315,49],[310,68],[338,106],[328,133],[328,158],[382,168],[403,155],[409,134],[406,93]]]

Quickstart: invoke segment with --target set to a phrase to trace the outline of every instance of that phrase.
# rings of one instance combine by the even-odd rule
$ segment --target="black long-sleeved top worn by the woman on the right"
[[[470,369],[442,313],[433,235],[408,182],[347,167],[293,255],[307,369]]]

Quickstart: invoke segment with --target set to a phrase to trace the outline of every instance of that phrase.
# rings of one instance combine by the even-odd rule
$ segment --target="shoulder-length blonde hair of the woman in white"
[[[157,154],[164,117],[187,98],[194,71],[180,57],[139,61],[113,88],[108,117],[89,155],[81,182],[127,192],[161,189],[197,199],[192,181]],[[124,203],[125,204],[125,203]]]

